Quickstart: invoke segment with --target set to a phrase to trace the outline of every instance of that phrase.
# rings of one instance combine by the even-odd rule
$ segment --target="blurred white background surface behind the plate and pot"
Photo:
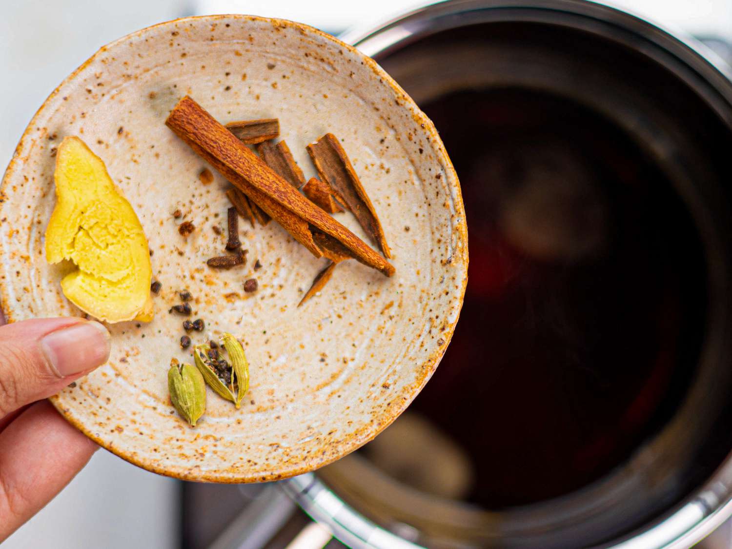
[[[0,18],[0,166],[7,165],[20,134],[53,88],[101,45],[131,31],[184,15],[240,12],[300,20],[338,32],[414,4],[414,0],[5,0]],[[732,0],[614,4],[670,26],[732,39]],[[177,547],[178,488],[176,481],[100,450],[70,486],[3,548]]]

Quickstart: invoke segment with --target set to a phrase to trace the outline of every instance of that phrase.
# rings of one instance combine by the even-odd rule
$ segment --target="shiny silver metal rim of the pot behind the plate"
[[[642,37],[665,53],[681,61],[690,72],[674,74],[698,91],[720,119],[732,126],[732,70],[714,52],[692,37],[630,12],[585,0],[447,0],[408,10],[400,15],[384,18],[376,25],[358,26],[341,34],[344,42],[351,43],[368,56],[378,56],[397,45],[404,45],[438,31],[463,26],[451,15],[471,12],[471,24],[494,20],[501,10],[511,10],[520,20],[537,20],[537,15],[559,12],[591,20],[610,23],[624,32]],[[533,19],[532,19],[533,17]],[[692,75],[693,80],[689,78]],[[699,79],[706,86],[700,89]],[[315,474],[291,479],[285,490],[315,520],[328,523],[336,537],[343,536],[354,547],[394,547],[379,545],[391,539],[387,532],[349,507]],[[613,542],[616,549],[689,547],[709,535],[732,515],[732,454],[722,461],[712,477],[692,491],[684,500],[662,517],[652,520]],[[354,532],[358,533],[354,537]],[[377,534],[381,532],[381,534]],[[367,534],[365,534],[367,533]],[[388,537],[384,538],[384,534]],[[406,542],[397,538],[400,542]],[[403,547],[417,547],[406,542]]]

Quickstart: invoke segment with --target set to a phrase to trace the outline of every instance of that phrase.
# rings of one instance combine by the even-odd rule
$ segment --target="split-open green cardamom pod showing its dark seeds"
[[[208,344],[195,346],[193,359],[203,379],[217,395],[231,400],[239,408],[249,389],[249,364],[244,356],[244,348],[236,337],[224,334],[221,344],[228,354],[228,361],[221,358],[219,351],[212,350]]]

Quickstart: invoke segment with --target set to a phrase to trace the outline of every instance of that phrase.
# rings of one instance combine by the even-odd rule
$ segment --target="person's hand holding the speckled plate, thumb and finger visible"
[[[0,327],[0,542],[86,465],[97,445],[48,400],[107,362],[109,332],[81,318]]]

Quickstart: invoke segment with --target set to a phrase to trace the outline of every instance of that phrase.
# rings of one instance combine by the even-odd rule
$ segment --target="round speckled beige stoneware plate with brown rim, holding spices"
[[[214,182],[201,184],[206,164],[165,127],[184,94],[220,122],[279,118],[306,176],[315,175],[307,143],[335,133],[381,217],[395,276],[348,261],[297,307],[326,260],[274,222],[242,222],[244,268],[209,269],[206,259],[223,253],[225,231],[212,227],[225,225],[228,183],[214,171]],[[371,59],[310,27],[239,15],[163,23],[102,48],[42,105],[7,168],[0,254],[8,321],[81,315],[61,294],[68,266],[48,265],[43,251],[54,154],[66,135],[105,161],[140,217],[153,278],[163,283],[154,321],[110,325],[108,364],[52,398],[106,449],[182,479],[290,477],[365,444],[432,375],[467,280],[460,187],[433,124]],[[195,224],[187,239],[176,209]],[[367,240],[351,214],[335,216]],[[253,294],[242,288],[248,277],[259,281]],[[192,362],[179,346],[183,318],[168,313],[184,288],[194,297],[190,318],[206,322],[194,343],[232,332],[250,362],[242,408],[208,389],[195,428],[173,411],[167,386],[172,356]]]

